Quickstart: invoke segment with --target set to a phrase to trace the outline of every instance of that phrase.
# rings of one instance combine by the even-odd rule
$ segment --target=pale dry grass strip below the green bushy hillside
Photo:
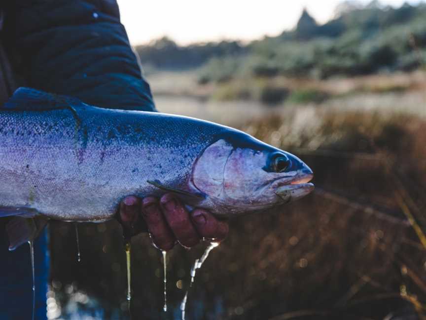
[[[327,80],[303,78],[244,78],[222,83],[197,83],[196,71],[159,72],[147,75],[155,96],[174,95],[213,98],[220,101],[259,100],[264,88],[275,88],[295,92],[319,92],[329,96],[356,93],[387,93],[426,90],[426,72],[394,73],[331,78]],[[314,101],[315,102],[315,101]]]

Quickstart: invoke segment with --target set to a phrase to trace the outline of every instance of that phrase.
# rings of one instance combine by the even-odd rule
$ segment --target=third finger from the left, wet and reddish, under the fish
[[[169,227],[181,245],[190,248],[200,242],[189,213],[172,194],[161,197],[160,205]]]

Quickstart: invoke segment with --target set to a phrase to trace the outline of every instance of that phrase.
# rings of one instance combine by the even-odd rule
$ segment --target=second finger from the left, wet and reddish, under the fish
[[[175,237],[167,226],[158,200],[153,197],[144,198],[141,211],[154,245],[165,251],[172,249],[175,245]]]

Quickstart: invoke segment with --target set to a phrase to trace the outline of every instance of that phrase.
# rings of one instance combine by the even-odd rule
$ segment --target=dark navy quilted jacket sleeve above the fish
[[[155,111],[115,0],[6,2],[5,43],[28,86],[104,108]]]

